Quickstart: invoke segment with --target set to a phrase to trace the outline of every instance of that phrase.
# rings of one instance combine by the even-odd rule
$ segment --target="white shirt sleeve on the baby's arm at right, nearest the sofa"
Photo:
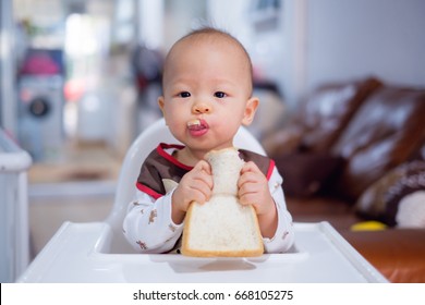
[[[294,230],[292,216],[287,209],[282,190],[283,179],[275,168],[269,179],[270,194],[275,200],[278,211],[278,227],[275,236],[271,239],[263,239],[266,253],[283,253],[288,252],[294,243]]]

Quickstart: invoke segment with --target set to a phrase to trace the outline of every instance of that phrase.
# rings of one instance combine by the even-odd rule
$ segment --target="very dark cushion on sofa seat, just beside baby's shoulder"
[[[341,167],[342,158],[327,152],[299,152],[275,159],[288,196],[307,197],[323,190]]]

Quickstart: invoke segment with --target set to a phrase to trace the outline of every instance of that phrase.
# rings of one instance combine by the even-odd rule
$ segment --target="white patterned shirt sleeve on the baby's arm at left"
[[[173,191],[158,199],[137,191],[136,199],[127,207],[123,221],[125,239],[139,253],[167,253],[175,246],[183,223],[171,219]]]

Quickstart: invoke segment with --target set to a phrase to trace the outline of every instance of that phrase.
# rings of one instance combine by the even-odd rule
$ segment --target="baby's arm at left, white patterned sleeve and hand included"
[[[199,161],[174,190],[157,200],[137,191],[137,199],[129,206],[123,222],[125,237],[142,253],[172,249],[183,232],[189,205],[208,200],[211,188],[210,167]]]

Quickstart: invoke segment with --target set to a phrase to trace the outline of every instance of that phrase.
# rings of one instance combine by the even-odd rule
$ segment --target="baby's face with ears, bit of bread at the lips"
[[[250,124],[251,66],[242,49],[224,38],[186,39],[168,58],[159,106],[171,133],[187,147],[209,151],[233,145]]]

